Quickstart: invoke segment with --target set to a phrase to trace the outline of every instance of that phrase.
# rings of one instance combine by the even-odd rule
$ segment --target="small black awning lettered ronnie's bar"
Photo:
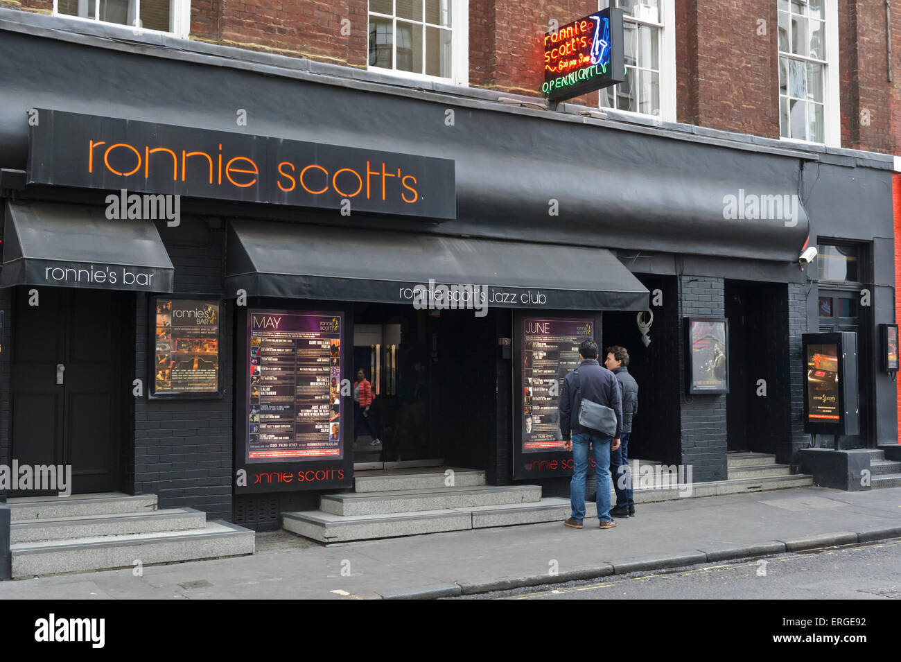
[[[153,222],[110,221],[104,207],[6,204],[3,260],[0,287],[172,291],[172,261]]]

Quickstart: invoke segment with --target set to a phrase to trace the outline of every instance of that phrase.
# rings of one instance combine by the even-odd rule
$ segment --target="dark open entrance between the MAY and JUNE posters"
[[[353,381],[362,370],[372,394],[365,415],[355,396],[355,468],[486,467],[496,440],[495,314],[355,304]]]

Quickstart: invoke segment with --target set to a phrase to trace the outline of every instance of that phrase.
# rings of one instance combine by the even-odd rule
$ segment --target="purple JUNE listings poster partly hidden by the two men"
[[[523,318],[523,452],[562,450],[560,389],[578,367],[578,345],[594,320]]]

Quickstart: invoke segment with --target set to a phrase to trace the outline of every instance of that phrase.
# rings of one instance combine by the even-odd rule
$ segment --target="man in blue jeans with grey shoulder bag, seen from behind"
[[[616,522],[610,517],[610,451],[618,449],[623,430],[623,405],[620,388],[612,372],[597,362],[597,344],[585,340],[578,346],[578,358],[582,362],[578,370],[569,373],[560,389],[560,433],[564,448],[572,451],[573,475],[569,484],[569,502],[572,516],[563,523],[574,529],[582,528],[585,519],[585,479],[588,471],[588,448],[595,453],[597,476],[597,519],[601,529],[612,529]],[[578,389],[577,377],[578,372]],[[610,407],[616,413],[616,433],[613,443],[610,437],[583,430],[578,425],[578,406],[581,399]],[[571,437],[571,439],[570,439]]]

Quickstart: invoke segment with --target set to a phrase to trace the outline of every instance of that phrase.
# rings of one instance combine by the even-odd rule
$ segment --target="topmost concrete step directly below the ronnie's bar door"
[[[21,496],[7,501],[13,521],[57,520],[60,517],[108,515],[114,512],[152,512],[156,494],[73,494],[72,496]]]

